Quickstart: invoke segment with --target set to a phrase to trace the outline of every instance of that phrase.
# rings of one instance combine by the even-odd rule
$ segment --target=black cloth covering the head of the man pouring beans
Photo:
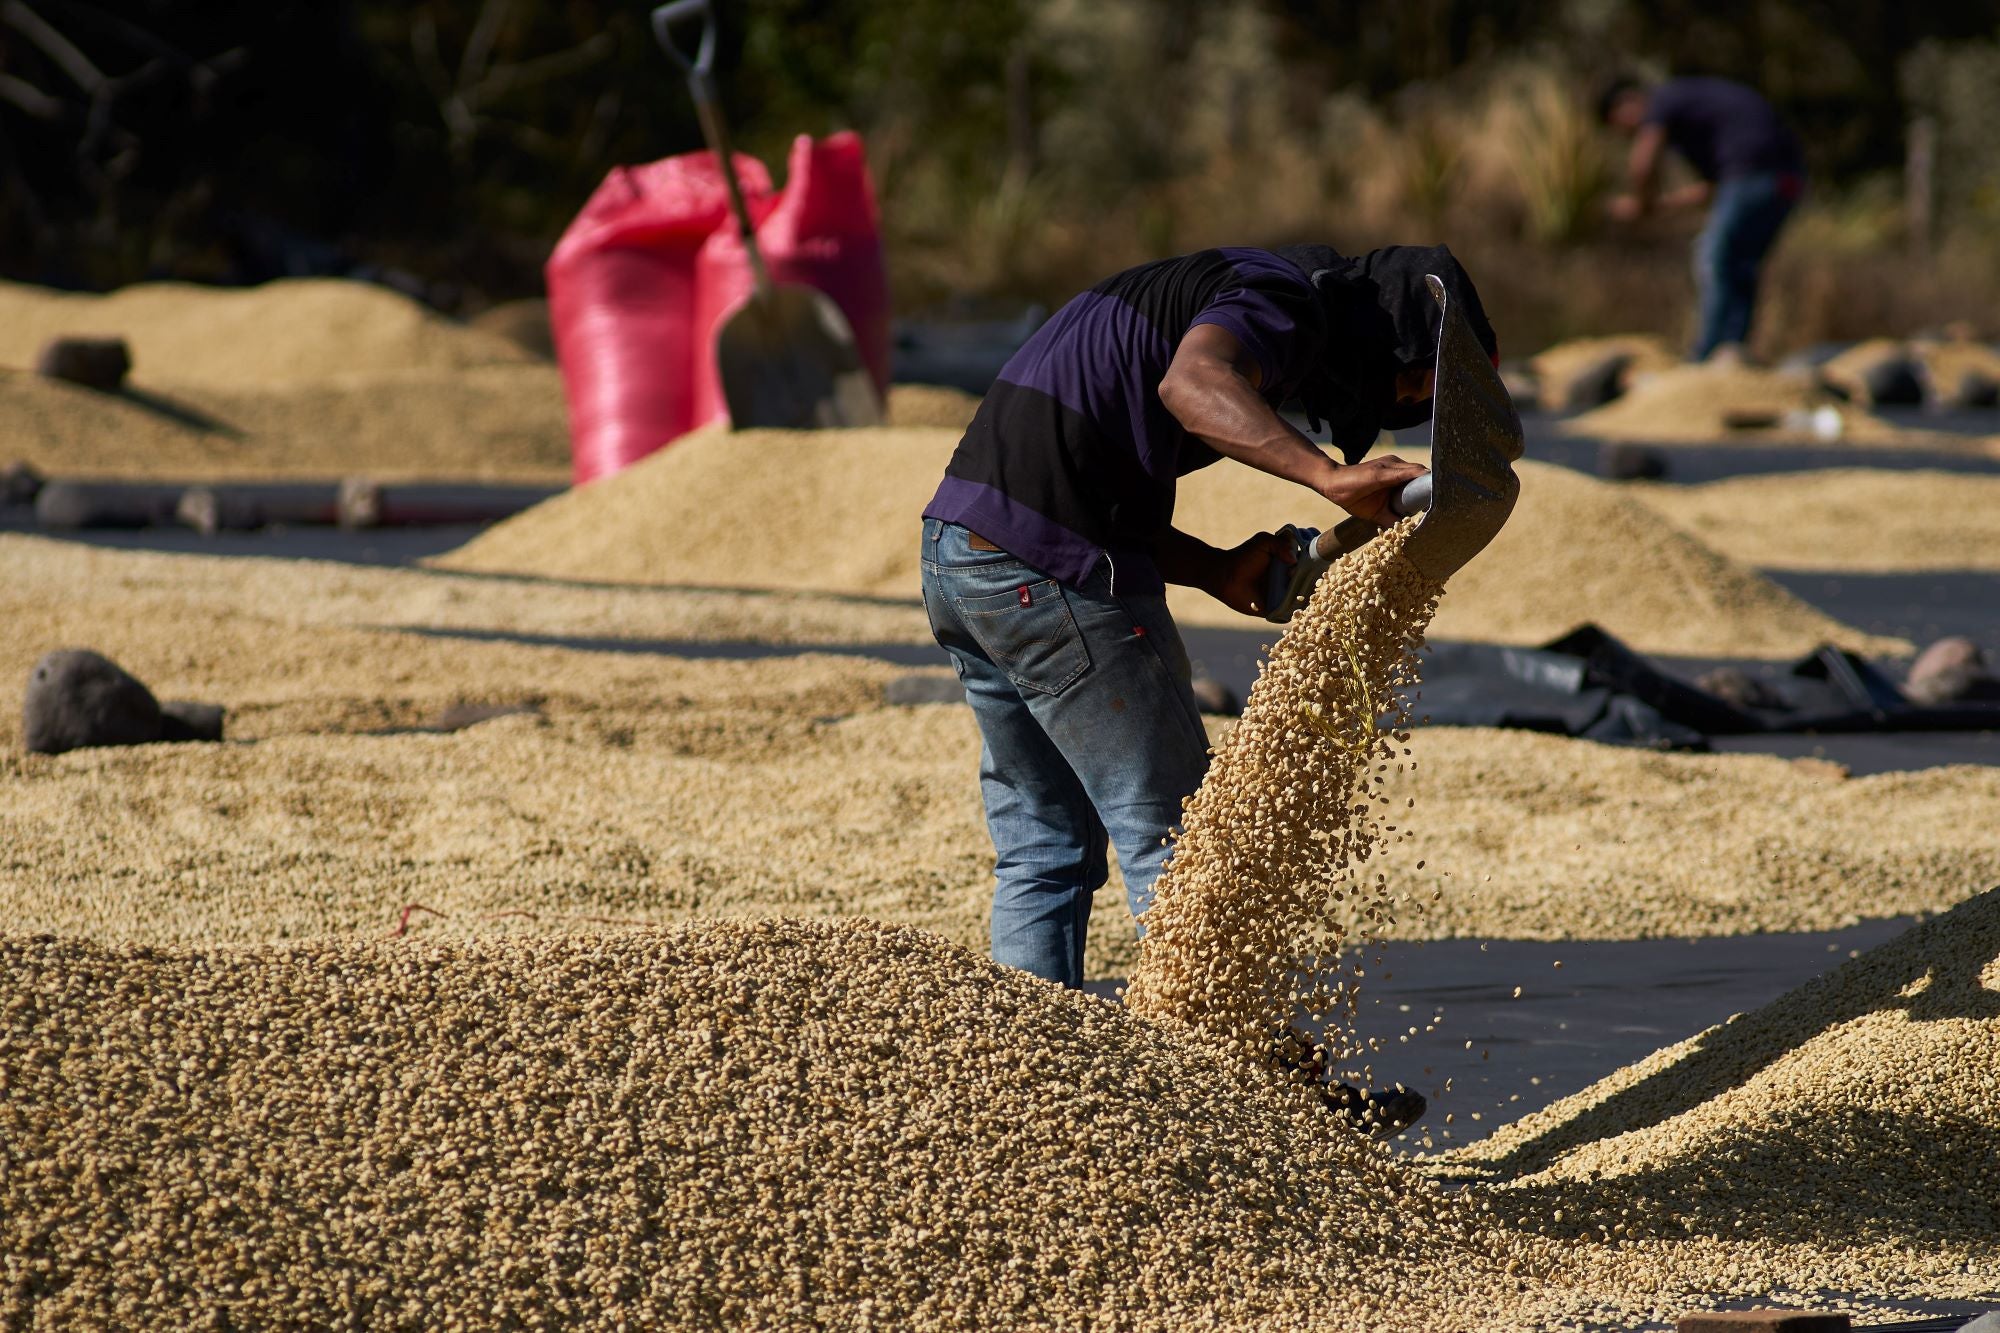
[[[1278,256],[1312,278],[1328,324],[1326,368],[1306,380],[1300,400],[1314,428],[1324,420],[1352,464],[1376,434],[1430,420],[1430,400],[1396,402],[1396,376],[1438,356],[1438,302],[1424,274],[1472,324],[1488,356],[1500,354],[1478,288],[1446,246],[1384,246],[1348,258],[1332,246],[1280,246]]]

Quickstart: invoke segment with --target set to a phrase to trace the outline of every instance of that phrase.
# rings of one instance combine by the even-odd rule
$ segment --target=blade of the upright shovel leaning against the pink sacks
[[[824,430],[882,424],[882,398],[854,330],[824,292],[774,284],[752,292],[716,330],[730,426]]]

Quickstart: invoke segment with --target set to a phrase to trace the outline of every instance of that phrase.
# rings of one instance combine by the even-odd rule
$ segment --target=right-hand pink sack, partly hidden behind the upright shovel
[[[752,206],[756,242],[772,282],[816,286],[834,298],[860,346],[878,392],[888,392],[888,270],[882,262],[882,222],[860,134],[842,130],[822,140],[800,134],[784,190],[770,210]],[[716,372],[716,328],[750,296],[750,260],[734,222],[718,226],[696,260],[694,422],[728,420],[722,376]]]

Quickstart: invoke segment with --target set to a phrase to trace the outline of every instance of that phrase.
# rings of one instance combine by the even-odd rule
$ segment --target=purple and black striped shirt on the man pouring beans
[[[1160,590],[1154,542],[1178,478],[1216,452],[1160,404],[1174,348],[1218,324],[1290,398],[1326,358],[1312,280],[1270,250],[1128,268],[1062,306],[1000,370],[924,508],[1068,584],[1110,558],[1122,592]]]

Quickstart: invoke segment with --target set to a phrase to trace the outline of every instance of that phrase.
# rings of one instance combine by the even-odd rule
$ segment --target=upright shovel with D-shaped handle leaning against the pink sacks
[[[690,56],[674,40],[674,28],[692,20],[700,20],[702,34]],[[736,182],[730,130],[716,96],[716,14],[710,0],[662,4],[652,12],[652,32],[688,76],[694,110],[702,118],[702,136],[722,166],[730,212],[736,214],[736,234],[750,260],[750,298],[716,330],[716,368],[722,376],[722,398],[730,408],[730,426],[810,430],[880,424],[882,400],[840,306],[816,288],[772,282],[764,266],[756,232],[750,228],[750,208]]]

